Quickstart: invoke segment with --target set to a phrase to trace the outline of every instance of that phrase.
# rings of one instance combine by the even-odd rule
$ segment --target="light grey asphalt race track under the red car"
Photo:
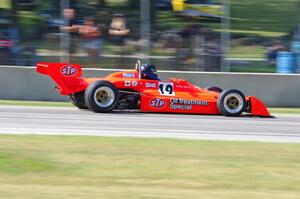
[[[232,118],[137,112],[104,114],[75,107],[0,106],[0,133],[300,143],[300,115]]]

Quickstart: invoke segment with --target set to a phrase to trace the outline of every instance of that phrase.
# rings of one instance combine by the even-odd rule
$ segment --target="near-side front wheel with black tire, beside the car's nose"
[[[245,95],[236,89],[224,90],[217,100],[218,109],[225,116],[240,116],[246,105]]]

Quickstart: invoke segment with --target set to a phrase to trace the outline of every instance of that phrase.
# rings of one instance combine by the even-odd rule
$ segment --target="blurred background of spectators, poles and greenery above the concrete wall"
[[[0,64],[297,73],[298,0],[1,0]],[[299,59],[298,59],[299,57]]]

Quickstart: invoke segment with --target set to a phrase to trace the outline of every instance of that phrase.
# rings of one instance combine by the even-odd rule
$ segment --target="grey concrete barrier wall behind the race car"
[[[119,69],[83,69],[85,77],[102,77]],[[194,71],[159,71],[161,79],[187,79],[200,86],[217,85],[223,89],[236,88],[255,95],[267,106],[300,107],[300,75],[218,73]],[[35,67],[0,66],[0,99],[67,101],[54,90],[54,82],[37,74]]]

